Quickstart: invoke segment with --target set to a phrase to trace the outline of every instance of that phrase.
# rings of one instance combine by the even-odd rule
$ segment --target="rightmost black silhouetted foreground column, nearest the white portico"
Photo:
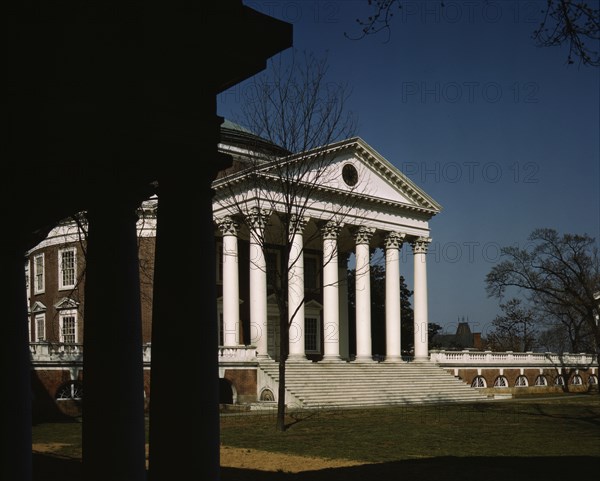
[[[214,97],[199,111],[214,111]],[[220,476],[211,182],[227,164],[217,152],[217,118],[204,120],[190,128],[197,133],[190,145],[165,149],[165,159],[180,162],[159,178],[150,382],[152,481]],[[192,174],[192,163],[200,172]]]

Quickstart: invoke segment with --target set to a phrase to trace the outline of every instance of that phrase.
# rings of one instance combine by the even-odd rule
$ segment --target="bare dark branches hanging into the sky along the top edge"
[[[358,40],[367,35],[391,32],[394,14],[398,13],[405,3],[403,0],[367,0],[372,9],[367,18],[358,18],[356,23],[359,32],[355,36],[346,37]],[[547,0],[541,2],[541,21],[532,33],[536,44],[541,47],[558,47],[568,45],[567,63],[575,63],[575,59],[583,65],[600,66],[598,40],[600,40],[600,10],[593,8],[591,2],[576,0]],[[444,2],[440,0],[440,8]],[[587,42],[587,43],[586,43]]]

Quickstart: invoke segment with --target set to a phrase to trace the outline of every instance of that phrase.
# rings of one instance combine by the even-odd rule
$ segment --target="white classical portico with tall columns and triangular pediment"
[[[381,249],[386,278],[385,361],[402,361],[400,275],[409,269],[414,276],[413,358],[428,360],[428,220],[439,212],[439,204],[362,139],[327,146],[318,154],[327,157],[326,163],[319,163],[325,165],[323,172],[314,174],[322,179],[319,192],[313,194],[314,201],[304,202],[303,209],[285,204],[278,196],[277,180],[271,179],[264,192],[259,192],[256,180],[250,185],[244,177],[247,172],[214,184],[223,347],[251,344],[259,360],[278,358],[282,313],[278,299],[283,299],[290,326],[289,362],[306,361],[307,355],[315,360],[315,354],[322,362],[373,362],[370,268],[373,251]],[[314,155],[308,152],[292,161]],[[352,176],[347,175],[349,169]],[[269,175],[268,167],[261,174]],[[412,253],[412,262],[406,265],[401,262],[403,248]],[[239,251],[248,254],[242,259]],[[345,286],[349,267],[354,268],[356,289],[353,345],[349,345]],[[248,285],[240,287],[240,282]],[[241,314],[239,306],[246,303],[246,314]],[[355,353],[352,359],[350,352]]]

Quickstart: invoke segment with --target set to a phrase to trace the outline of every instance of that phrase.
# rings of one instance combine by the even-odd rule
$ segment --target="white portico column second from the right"
[[[400,252],[404,234],[385,238],[385,360],[400,361]]]

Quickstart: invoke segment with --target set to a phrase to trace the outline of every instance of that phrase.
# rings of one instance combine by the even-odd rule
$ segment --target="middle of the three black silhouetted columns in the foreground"
[[[137,203],[88,210],[84,311],[86,480],[146,479]]]

